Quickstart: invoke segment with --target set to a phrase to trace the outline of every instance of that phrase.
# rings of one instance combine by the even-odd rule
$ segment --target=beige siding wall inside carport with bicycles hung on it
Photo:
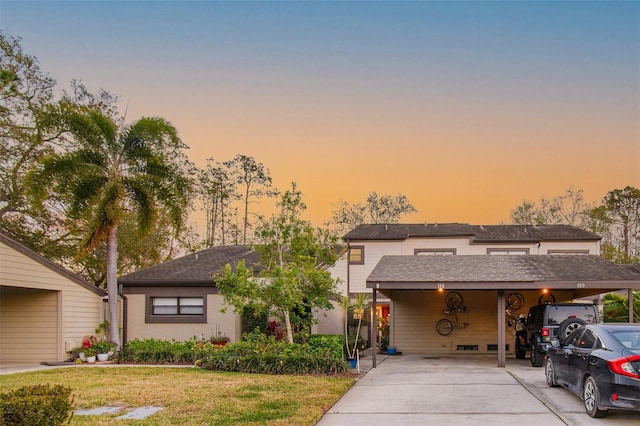
[[[464,353],[496,353],[488,345],[497,345],[497,292],[459,291],[467,307],[458,314],[460,324],[469,323],[466,328],[456,328],[449,336],[436,332],[436,323],[445,315],[444,298],[446,292],[437,291],[395,291],[391,306],[391,343],[399,351],[408,354],[444,355],[461,353],[459,345],[477,345],[477,351]],[[509,292],[507,292],[509,293]],[[529,307],[538,303],[540,292],[521,291],[525,306],[514,314],[526,314]],[[558,302],[570,301],[570,293],[555,292]],[[506,328],[508,354],[513,354],[515,329]]]

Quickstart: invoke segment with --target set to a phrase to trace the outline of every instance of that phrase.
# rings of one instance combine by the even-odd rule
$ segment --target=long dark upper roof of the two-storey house
[[[601,237],[570,225],[469,225],[466,223],[373,224],[359,225],[343,239],[405,240],[420,237],[469,237],[473,242],[538,242],[593,240]]]

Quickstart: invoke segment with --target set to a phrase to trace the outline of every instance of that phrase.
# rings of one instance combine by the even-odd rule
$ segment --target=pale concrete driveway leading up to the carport
[[[367,369],[370,359],[362,360]],[[630,425],[639,412],[611,411],[592,419],[582,401],[563,388],[549,388],[544,369],[529,360],[496,356],[378,359],[324,417],[332,425]]]

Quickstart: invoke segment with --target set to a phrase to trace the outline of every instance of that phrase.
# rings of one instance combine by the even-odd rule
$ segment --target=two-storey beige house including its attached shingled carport
[[[598,235],[568,225],[360,225],[344,241],[346,291],[371,294],[404,353],[495,353],[504,366],[514,351],[509,316],[640,288],[640,274],[599,256]],[[459,310],[447,308],[451,292],[464,301]],[[524,300],[517,312],[506,304],[512,294]],[[447,335],[436,330],[443,318],[454,325]]]

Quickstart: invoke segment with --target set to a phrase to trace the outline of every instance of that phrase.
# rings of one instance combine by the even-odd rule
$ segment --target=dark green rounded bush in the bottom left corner
[[[0,395],[0,425],[55,426],[73,416],[73,395],[65,386],[24,386]]]

